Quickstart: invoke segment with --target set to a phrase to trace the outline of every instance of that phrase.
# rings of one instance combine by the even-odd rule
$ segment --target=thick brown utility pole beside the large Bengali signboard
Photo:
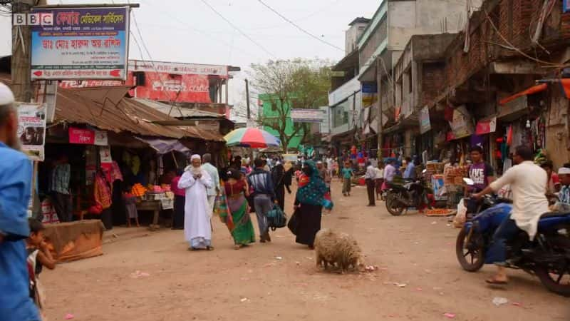
[[[12,1],[12,14],[27,14],[35,2],[33,0]],[[46,4],[45,0],[39,2],[39,4]],[[14,26],[14,21],[12,21],[11,75],[12,91],[16,101],[31,102],[33,98],[30,51],[31,26],[27,24]]]

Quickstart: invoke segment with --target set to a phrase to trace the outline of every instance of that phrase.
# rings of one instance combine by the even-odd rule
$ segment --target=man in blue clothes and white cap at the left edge
[[[0,321],[40,320],[30,298],[25,239],[31,163],[20,153],[14,95],[0,83]]]

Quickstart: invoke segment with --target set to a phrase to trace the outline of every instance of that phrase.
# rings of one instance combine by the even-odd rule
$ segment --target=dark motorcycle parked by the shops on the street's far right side
[[[425,172],[425,170],[424,170]],[[427,204],[427,194],[424,178],[417,178],[403,185],[388,183],[385,193],[385,203],[388,212],[394,216],[402,215],[408,208],[421,208]]]

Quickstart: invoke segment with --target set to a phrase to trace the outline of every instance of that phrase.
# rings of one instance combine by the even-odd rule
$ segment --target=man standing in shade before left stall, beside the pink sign
[[[58,213],[60,222],[71,222],[73,220],[73,204],[71,193],[69,193],[69,179],[71,176],[71,166],[66,155],[61,155],[56,162],[56,166],[51,172],[51,195],[53,208]]]

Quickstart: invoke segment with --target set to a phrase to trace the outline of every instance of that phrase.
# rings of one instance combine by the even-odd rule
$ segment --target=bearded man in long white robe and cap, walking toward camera
[[[207,171],[201,168],[200,156],[192,155],[191,160],[192,165],[185,168],[178,181],[178,188],[186,190],[184,235],[190,243],[189,250],[213,250],[207,189],[214,184]]]

